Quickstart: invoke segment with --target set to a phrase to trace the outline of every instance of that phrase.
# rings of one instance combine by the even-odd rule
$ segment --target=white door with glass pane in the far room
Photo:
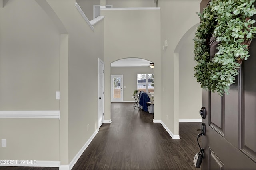
[[[123,75],[111,75],[111,99],[123,102]]]

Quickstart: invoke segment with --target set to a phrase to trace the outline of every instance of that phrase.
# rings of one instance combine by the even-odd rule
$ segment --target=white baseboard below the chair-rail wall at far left
[[[1,160],[1,161],[3,162],[1,162],[0,166],[60,167],[60,161],[42,161],[42,160]]]

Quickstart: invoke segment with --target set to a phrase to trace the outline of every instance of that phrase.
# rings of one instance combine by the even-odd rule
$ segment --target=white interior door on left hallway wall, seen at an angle
[[[98,128],[104,122],[104,63],[98,59]]]

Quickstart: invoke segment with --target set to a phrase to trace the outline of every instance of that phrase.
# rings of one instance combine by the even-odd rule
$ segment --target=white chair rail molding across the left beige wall
[[[59,110],[0,111],[0,118],[53,118],[60,119]]]

